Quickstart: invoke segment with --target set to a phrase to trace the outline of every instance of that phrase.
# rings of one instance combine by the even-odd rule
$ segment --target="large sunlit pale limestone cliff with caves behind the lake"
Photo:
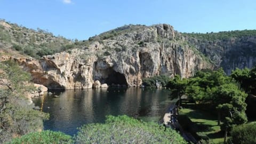
[[[93,84],[140,86],[145,77],[190,77],[199,69],[213,68],[170,25],[127,26],[121,30],[125,33],[100,41],[94,37],[81,49],[40,60],[10,59],[29,71],[34,83],[48,89],[89,89]]]

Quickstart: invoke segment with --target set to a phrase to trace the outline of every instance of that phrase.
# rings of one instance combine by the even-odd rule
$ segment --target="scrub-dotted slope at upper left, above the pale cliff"
[[[41,58],[75,47],[75,42],[61,36],[54,36],[47,30],[28,29],[0,19],[1,54],[28,55]]]

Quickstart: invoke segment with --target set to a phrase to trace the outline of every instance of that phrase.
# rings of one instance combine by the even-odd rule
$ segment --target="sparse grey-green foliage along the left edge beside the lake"
[[[26,95],[34,90],[30,75],[13,61],[0,62],[0,74],[0,142],[42,130],[48,115],[29,104]]]

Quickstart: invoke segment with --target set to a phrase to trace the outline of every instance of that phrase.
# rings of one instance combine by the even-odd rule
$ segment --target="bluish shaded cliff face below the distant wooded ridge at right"
[[[210,58],[215,67],[222,67],[227,75],[231,71],[256,65],[256,36],[230,37],[226,39],[199,40],[186,38],[206,57]]]

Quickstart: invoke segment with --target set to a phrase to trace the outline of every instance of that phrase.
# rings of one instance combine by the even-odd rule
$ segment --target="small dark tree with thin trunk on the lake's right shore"
[[[178,107],[181,103],[181,96],[185,94],[187,86],[187,79],[181,78],[179,75],[175,75],[174,78],[166,85],[171,90],[171,95],[179,98]]]

